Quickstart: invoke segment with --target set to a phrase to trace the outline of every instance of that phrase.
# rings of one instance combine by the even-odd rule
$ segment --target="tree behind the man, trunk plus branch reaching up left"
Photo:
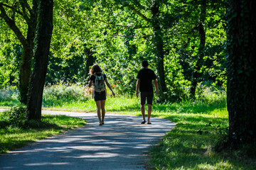
[[[142,5],[142,4],[144,5]],[[173,23],[175,21],[174,16],[169,15],[166,11],[161,11],[165,1],[161,0],[152,0],[151,3],[148,1],[139,2],[139,1],[129,1],[124,2],[123,5],[127,6],[130,10],[136,13],[141,17],[146,23],[152,28],[153,35],[151,36],[152,42],[152,52],[154,52],[155,61],[156,61],[156,70],[159,74],[159,87],[161,99],[164,99],[164,94],[167,91],[166,81],[165,81],[165,72],[164,72],[164,35],[163,35],[163,25],[166,23]],[[146,6],[146,5],[147,6]],[[149,9],[149,11],[147,11]],[[144,12],[142,12],[144,11]],[[144,13],[150,13],[150,15],[144,15]],[[167,15],[166,15],[167,14]],[[151,16],[151,17],[149,17]],[[168,24],[167,24],[168,25]]]

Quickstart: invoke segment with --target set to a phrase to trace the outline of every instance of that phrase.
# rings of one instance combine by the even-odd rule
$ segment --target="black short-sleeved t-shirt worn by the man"
[[[140,79],[139,91],[153,91],[152,80],[156,79],[156,74],[154,74],[153,70],[139,70],[137,79]]]

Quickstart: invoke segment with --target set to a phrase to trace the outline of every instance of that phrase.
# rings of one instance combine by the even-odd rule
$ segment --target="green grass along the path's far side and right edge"
[[[176,127],[149,149],[152,169],[256,169],[255,153],[248,157],[242,150],[215,152],[215,144],[225,138],[228,111],[225,94],[206,92],[200,101],[154,103],[151,122],[154,123],[154,117],[166,118],[175,122]],[[0,106],[11,104],[0,102]],[[95,112],[96,105],[87,95],[78,100],[48,98],[43,101],[43,109]],[[106,111],[141,115],[139,98],[107,96]]]

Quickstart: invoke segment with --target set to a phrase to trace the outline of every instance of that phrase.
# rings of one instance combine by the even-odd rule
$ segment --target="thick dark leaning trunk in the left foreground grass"
[[[35,65],[28,92],[28,120],[41,119],[43,87],[46,81],[50,39],[53,32],[53,0],[41,0],[38,14]]]

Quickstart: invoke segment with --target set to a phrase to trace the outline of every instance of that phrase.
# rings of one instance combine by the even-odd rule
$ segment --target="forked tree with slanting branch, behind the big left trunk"
[[[14,31],[16,37],[23,45],[23,57],[21,59],[19,73],[19,92],[21,103],[26,104],[28,86],[31,77],[31,62],[33,57],[33,40],[36,35],[36,20],[38,16],[38,1],[33,0],[32,6],[28,1],[2,1],[0,2],[0,18]],[[18,18],[18,19],[17,19]],[[18,22],[25,20],[27,24],[26,35],[23,33],[22,25]]]

